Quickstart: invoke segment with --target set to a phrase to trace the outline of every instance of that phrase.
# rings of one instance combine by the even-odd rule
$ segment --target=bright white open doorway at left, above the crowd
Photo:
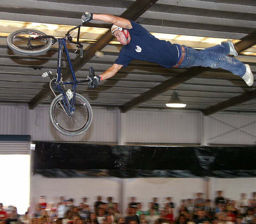
[[[0,155],[0,164],[0,203],[24,214],[29,206],[30,155]]]

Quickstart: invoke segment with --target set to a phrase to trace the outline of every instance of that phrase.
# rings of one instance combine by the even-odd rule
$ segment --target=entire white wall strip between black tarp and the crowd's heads
[[[209,182],[207,189],[206,181]],[[196,193],[209,190],[209,198],[216,197],[216,191],[222,190],[223,196],[232,200],[239,200],[240,193],[246,193],[251,198],[251,193],[256,191],[256,178],[46,178],[39,174],[31,176],[30,205],[33,207],[40,196],[44,195],[47,202],[55,205],[60,196],[73,198],[74,204],[79,204],[82,197],[88,197],[88,204],[93,209],[93,203],[98,195],[102,201],[107,202],[107,197],[114,197],[114,202],[120,203],[123,212],[130,202],[130,197],[136,197],[136,202],[143,204],[142,210],[148,209],[148,202],[153,197],[158,197],[158,202],[163,205],[166,197],[173,197],[176,206],[180,199],[196,198]],[[121,209],[120,209],[121,210]]]

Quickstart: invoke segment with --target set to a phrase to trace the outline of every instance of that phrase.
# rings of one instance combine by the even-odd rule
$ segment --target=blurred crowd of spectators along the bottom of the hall
[[[0,203],[0,224],[256,224],[256,192],[252,192],[250,199],[242,193],[237,201],[224,198],[221,191],[217,191],[212,201],[197,193],[194,199],[180,200],[178,206],[171,197],[164,198],[161,204],[154,197],[145,211],[142,204],[131,197],[123,215],[112,197],[103,202],[98,196],[93,211],[86,201],[84,197],[74,205],[72,198],[60,197],[60,202],[53,207],[41,196],[34,211],[24,215],[19,215],[16,207],[4,209]]]

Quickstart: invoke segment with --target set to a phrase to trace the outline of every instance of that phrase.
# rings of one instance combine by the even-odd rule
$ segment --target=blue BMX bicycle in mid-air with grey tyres
[[[59,43],[56,78],[53,78],[51,75],[52,72],[50,71],[44,73],[42,76],[49,76],[51,78],[50,88],[55,95],[49,108],[51,124],[58,132],[68,136],[81,135],[92,123],[91,105],[82,95],[76,93],[77,84],[88,82],[91,89],[98,86],[98,82],[93,78],[95,74],[92,67],[89,67],[89,76],[87,79],[76,80],[66,45],[66,42],[76,44],[76,51],[80,49],[80,57],[83,57],[83,44],[79,43],[80,27],[83,25],[84,23],[70,29],[63,38],[55,38],[54,36],[46,35],[41,31],[33,29],[17,30],[7,37],[7,45],[13,51],[24,55],[43,54],[48,51],[54,43]],[[72,41],[73,38],[69,34],[75,29],[78,29],[76,42]],[[62,81],[61,61],[63,48],[73,81]],[[72,89],[65,89],[65,85],[68,84],[73,85]],[[59,93],[59,95],[56,95],[55,92]]]

